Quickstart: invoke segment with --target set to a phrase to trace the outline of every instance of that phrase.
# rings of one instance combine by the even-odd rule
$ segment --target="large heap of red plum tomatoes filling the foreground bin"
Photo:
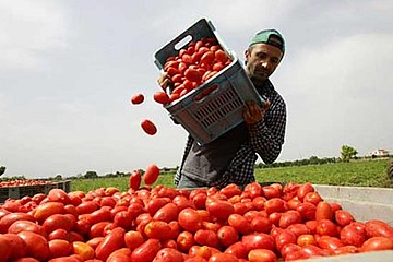
[[[0,261],[274,262],[392,249],[389,224],[356,221],[310,183],[52,189],[0,206]]]

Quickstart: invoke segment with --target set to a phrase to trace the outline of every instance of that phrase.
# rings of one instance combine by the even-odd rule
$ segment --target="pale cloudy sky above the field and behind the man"
[[[287,104],[277,162],[338,157],[344,144],[392,153],[392,13],[390,0],[0,0],[3,176],[178,166],[187,132],[152,98],[154,53],[202,17],[240,60],[258,31],[284,35],[271,76]]]

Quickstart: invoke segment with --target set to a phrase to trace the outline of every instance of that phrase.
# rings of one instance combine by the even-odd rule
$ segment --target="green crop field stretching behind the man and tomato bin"
[[[360,186],[393,188],[386,169],[391,159],[354,160],[324,165],[259,168],[255,177],[259,182],[311,182],[314,184]],[[174,186],[174,174],[165,174],[156,184]],[[97,188],[116,187],[121,191],[128,189],[128,177],[74,179],[71,190],[87,192]]]

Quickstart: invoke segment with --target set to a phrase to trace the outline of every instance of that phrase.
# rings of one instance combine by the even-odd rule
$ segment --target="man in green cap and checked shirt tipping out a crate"
[[[178,188],[246,186],[255,180],[253,171],[258,155],[264,163],[273,163],[278,157],[284,144],[286,105],[269,76],[284,52],[284,38],[275,29],[261,31],[252,38],[245,51],[246,71],[267,102],[263,108],[248,102],[245,122],[209,144],[200,145],[189,135],[175,176]],[[165,87],[168,80],[164,75],[158,83]]]

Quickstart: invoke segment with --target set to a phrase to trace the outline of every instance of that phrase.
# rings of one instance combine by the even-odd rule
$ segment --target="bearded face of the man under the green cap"
[[[274,72],[283,58],[279,48],[263,43],[251,46],[245,55],[246,69],[257,85],[262,84]]]

